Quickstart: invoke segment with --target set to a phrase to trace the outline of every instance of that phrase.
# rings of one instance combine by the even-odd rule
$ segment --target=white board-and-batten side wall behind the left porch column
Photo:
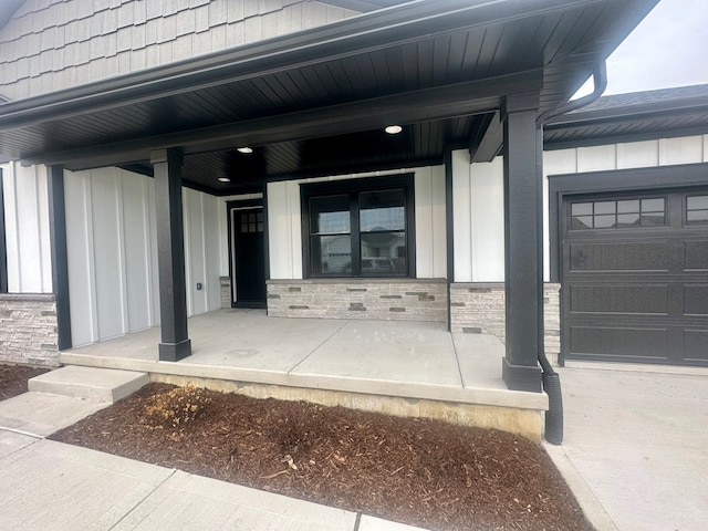
[[[100,168],[64,171],[64,186],[73,345],[158,325],[153,179]],[[185,188],[183,207],[187,312],[196,315],[221,305],[222,200]]]

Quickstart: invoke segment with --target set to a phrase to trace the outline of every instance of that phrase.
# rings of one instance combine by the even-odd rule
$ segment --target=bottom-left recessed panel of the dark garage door
[[[571,326],[570,352],[575,355],[667,358],[668,329]]]

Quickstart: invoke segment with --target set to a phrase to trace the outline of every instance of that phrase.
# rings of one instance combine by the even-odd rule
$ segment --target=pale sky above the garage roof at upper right
[[[607,59],[604,95],[704,83],[708,0],[662,0]],[[581,91],[592,92],[592,83]]]

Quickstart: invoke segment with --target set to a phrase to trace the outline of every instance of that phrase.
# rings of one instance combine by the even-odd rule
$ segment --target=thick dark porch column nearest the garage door
[[[507,353],[502,376],[514,391],[541,392],[542,162],[538,150],[539,94],[508,96],[504,131],[504,279]]]

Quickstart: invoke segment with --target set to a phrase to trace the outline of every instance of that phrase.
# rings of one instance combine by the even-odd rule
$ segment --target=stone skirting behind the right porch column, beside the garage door
[[[561,284],[543,285],[543,325],[545,355],[558,363],[561,352]],[[506,336],[504,284],[455,283],[450,287],[450,324],[452,332]]]

